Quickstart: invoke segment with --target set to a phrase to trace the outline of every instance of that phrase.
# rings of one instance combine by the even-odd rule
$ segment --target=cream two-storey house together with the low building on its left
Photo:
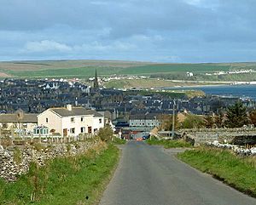
[[[84,107],[49,108],[40,114],[28,114],[19,110],[14,114],[1,114],[1,130],[26,135],[79,136],[95,134],[104,127],[104,117],[97,111]],[[13,134],[11,134],[13,135]]]

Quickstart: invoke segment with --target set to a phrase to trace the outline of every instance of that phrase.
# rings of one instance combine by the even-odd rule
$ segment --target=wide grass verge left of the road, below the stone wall
[[[14,183],[0,179],[0,204],[96,204],[119,161],[114,145],[90,150],[76,157],[59,157]]]

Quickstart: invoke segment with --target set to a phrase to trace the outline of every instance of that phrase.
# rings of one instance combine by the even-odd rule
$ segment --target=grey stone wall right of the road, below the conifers
[[[183,129],[179,134],[185,140],[192,140],[195,145],[218,140],[235,145],[256,145],[256,128],[203,128]]]

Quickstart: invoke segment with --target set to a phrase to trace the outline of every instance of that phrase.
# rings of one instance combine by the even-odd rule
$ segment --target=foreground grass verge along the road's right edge
[[[201,147],[177,155],[183,162],[236,190],[256,197],[256,167],[247,157],[237,157],[230,151]]]

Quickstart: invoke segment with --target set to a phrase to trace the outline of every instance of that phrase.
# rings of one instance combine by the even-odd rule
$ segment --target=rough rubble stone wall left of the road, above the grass
[[[44,166],[46,160],[75,156],[100,143],[100,140],[88,140],[70,144],[9,146],[5,149],[0,145],[0,178],[14,181],[20,174],[26,174],[31,162]]]

